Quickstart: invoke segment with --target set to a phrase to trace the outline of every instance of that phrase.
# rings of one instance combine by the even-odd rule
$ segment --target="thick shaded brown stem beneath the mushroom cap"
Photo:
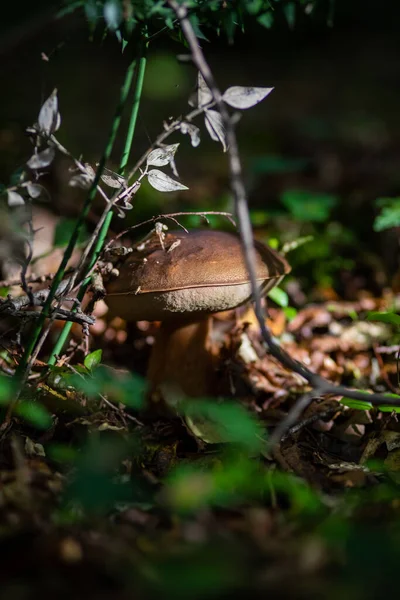
[[[184,324],[160,325],[147,371],[153,401],[174,403],[174,392],[192,397],[212,393],[215,361],[210,352],[211,324],[207,315]]]

